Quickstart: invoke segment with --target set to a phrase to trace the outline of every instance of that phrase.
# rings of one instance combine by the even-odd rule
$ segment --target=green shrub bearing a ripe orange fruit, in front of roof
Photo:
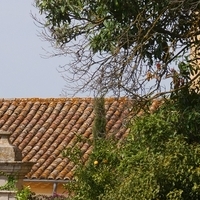
[[[120,163],[113,140],[99,139],[98,145],[90,155],[88,162],[78,165],[75,178],[65,185],[71,193],[71,199],[101,199],[116,182],[116,167]],[[74,195],[75,194],[75,195]]]

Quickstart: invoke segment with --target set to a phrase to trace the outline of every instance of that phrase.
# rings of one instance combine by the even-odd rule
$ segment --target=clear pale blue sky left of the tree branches
[[[57,98],[66,82],[58,72],[66,57],[48,58],[53,51],[38,36],[41,29],[34,0],[3,0],[0,4],[0,98]]]

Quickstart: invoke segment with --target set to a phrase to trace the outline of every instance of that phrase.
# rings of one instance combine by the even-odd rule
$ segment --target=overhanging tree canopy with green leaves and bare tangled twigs
[[[200,57],[199,0],[35,3],[54,55],[70,58],[62,69],[74,89],[135,97],[164,91],[163,81],[175,76],[178,87],[173,82],[169,90],[177,89]]]

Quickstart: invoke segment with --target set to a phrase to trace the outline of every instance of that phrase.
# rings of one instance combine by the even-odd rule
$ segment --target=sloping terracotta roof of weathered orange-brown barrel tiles
[[[128,101],[105,100],[107,134],[118,139],[127,133]],[[88,158],[91,145],[77,135],[92,138],[92,98],[0,99],[0,129],[12,133],[10,141],[22,151],[23,161],[36,162],[26,178],[71,179],[74,164],[62,156],[66,147],[79,145]]]

